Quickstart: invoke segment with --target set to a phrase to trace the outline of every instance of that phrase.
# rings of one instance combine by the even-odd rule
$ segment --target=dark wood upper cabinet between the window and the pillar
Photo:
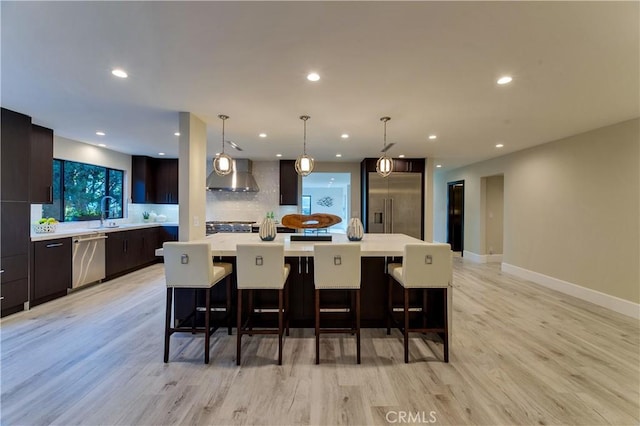
[[[178,160],[132,156],[131,200],[141,204],[178,204]]]

